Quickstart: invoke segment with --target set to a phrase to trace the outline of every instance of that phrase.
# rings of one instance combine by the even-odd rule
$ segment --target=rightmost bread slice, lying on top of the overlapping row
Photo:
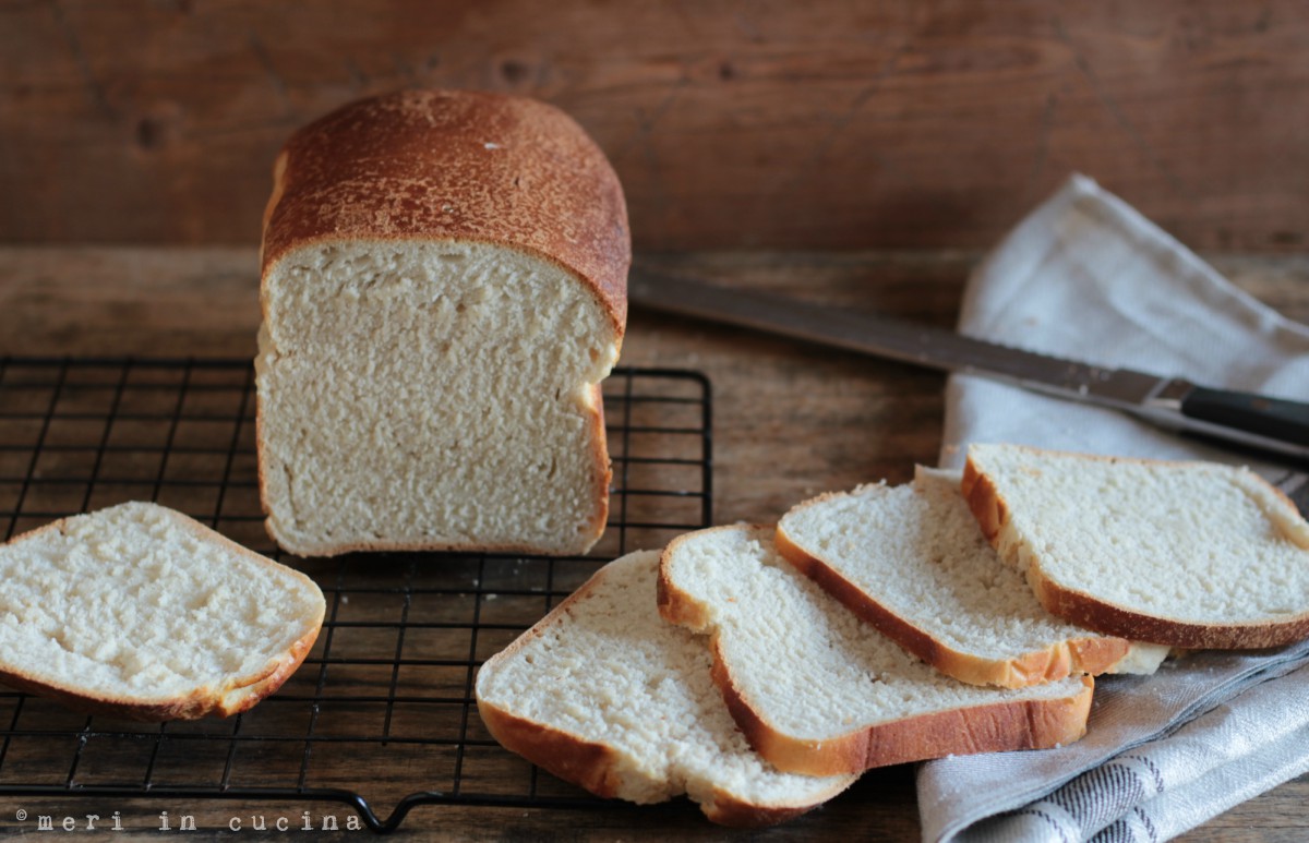
[[[1309,524],[1253,471],[979,444],[962,488],[1072,623],[1192,649],[1309,636]]]

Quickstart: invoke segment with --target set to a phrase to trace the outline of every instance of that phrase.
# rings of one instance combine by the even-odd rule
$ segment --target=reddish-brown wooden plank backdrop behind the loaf
[[[641,250],[984,247],[1080,170],[1202,250],[1309,229],[1309,14],[1270,0],[0,0],[0,242],[257,243],[298,124],[541,97]]]

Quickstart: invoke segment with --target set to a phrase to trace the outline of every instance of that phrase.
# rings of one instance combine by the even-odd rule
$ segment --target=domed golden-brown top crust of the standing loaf
[[[348,103],[287,141],[263,216],[263,278],[332,240],[474,241],[581,278],[617,336],[631,233],[603,152],[559,109],[505,94],[402,90]]]

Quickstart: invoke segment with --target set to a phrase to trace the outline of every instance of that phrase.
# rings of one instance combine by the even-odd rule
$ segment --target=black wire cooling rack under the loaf
[[[712,522],[708,381],[615,369],[603,394],[614,488],[588,556],[283,559],[327,617],[278,694],[226,720],[137,724],[0,687],[0,795],[340,802],[374,831],[427,804],[602,804],[501,749],[473,681],[605,560]],[[0,531],[154,500],[281,559],[254,408],[247,361],[0,357]]]

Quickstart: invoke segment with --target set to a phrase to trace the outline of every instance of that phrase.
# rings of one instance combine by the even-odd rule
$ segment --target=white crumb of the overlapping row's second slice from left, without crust
[[[1080,678],[1005,690],[939,673],[797,572],[772,534],[690,533],[664,558],[665,583],[708,611],[733,685],[770,730],[830,741],[940,712],[1081,694]],[[958,751],[967,751],[970,736],[959,737]]]

